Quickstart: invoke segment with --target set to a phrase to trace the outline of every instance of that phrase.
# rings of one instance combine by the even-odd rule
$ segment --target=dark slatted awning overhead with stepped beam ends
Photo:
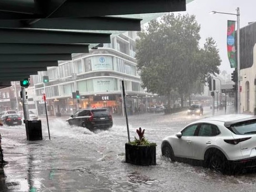
[[[184,10],[186,0],[1,0],[0,88]]]

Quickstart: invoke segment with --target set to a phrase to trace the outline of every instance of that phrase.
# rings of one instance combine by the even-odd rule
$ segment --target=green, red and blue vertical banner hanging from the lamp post
[[[235,27],[236,21],[227,21],[227,56],[229,59],[230,67],[236,68],[236,46],[235,46]]]

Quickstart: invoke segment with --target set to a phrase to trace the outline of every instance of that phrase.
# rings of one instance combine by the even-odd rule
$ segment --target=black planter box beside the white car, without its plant
[[[126,163],[136,165],[156,165],[156,144],[133,145],[125,144],[125,161]]]

